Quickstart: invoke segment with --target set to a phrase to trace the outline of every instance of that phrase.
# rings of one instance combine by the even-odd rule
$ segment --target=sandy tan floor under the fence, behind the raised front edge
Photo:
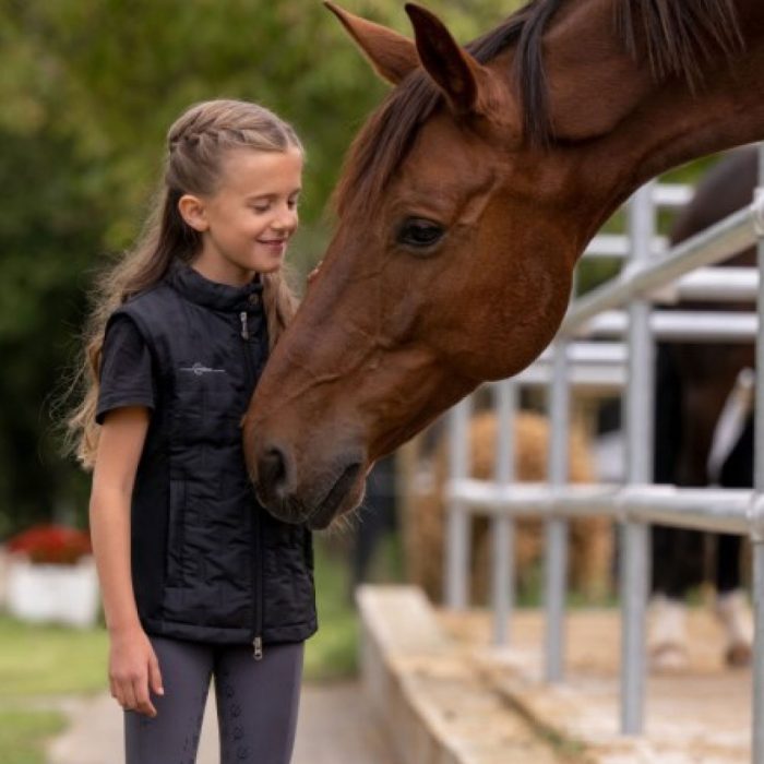
[[[620,617],[613,609],[569,611],[565,681],[541,682],[544,618],[520,611],[511,648],[490,647],[488,613],[439,613],[445,631],[469,645],[487,685],[539,729],[601,764],[749,764],[751,671],[723,660],[720,630],[708,609],[690,612],[687,669],[647,678],[645,735],[619,728]]]

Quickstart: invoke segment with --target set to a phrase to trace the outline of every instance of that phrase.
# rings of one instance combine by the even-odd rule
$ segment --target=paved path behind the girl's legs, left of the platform
[[[49,748],[48,764],[123,764],[122,712],[108,694],[62,705],[68,731]],[[217,715],[211,692],[196,764],[217,764]],[[306,684],[291,764],[397,764],[357,682]]]

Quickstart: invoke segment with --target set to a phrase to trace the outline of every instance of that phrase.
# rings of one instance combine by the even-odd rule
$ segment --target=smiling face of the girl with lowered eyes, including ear
[[[179,202],[186,222],[202,235],[194,266],[212,280],[232,285],[277,271],[297,229],[301,178],[297,148],[230,150],[217,190],[208,196],[186,194]]]

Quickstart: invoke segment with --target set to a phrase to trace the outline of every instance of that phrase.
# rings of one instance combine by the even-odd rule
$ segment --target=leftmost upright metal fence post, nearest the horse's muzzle
[[[470,399],[464,398],[449,415],[449,475],[461,480],[469,475],[469,417]],[[461,499],[449,499],[446,548],[444,558],[444,599],[447,607],[463,610],[469,592],[469,513]]]

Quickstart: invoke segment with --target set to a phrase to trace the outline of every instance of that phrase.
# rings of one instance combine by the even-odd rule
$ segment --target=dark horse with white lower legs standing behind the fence
[[[739,150],[717,164],[699,184],[693,201],[677,218],[671,242],[678,243],[750,204],[757,182],[757,151]],[[726,261],[726,266],[753,266],[751,248]],[[755,305],[682,303],[682,309],[755,310]],[[737,442],[729,444],[718,475],[708,462],[719,416],[733,393],[738,374],[753,369],[753,343],[661,343],[656,371],[656,482],[684,487],[715,480],[728,488],[753,486],[753,420],[740,422]],[[688,528],[653,529],[650,659],[654,668],[682,668],[688,660],[684,599],[704,581],[708,535]],[[715,536],[713,556],[716,612],[725,630],[726,659],[733,666],[751,659],[752,623],[741,590],[741,537]]]

